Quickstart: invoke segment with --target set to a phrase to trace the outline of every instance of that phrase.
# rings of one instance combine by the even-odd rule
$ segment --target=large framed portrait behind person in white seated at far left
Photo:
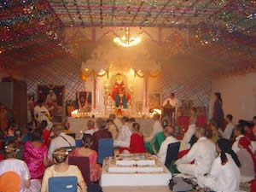
[[[63,123],[65,116],[65,86],[64,85],[38,85],[38,99],[45,103],[53,122]]]

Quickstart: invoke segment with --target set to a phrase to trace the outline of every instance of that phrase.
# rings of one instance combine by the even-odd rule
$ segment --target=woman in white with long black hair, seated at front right
[[[216,144],[218,157],[212,163],[207,176],[197,177],[197,183],[212,191],[237,192],[239,190],[241,166],[236,153],[231,149],[230,140],[221,138]]]

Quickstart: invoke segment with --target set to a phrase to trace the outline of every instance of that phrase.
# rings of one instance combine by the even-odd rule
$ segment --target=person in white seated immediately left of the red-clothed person
[[[129,118],[122,118],[122,126],[119,130],[118,137],[113,142],[113,146],[116,148],[129,148],[131,142],[131,131],[129,128]]]

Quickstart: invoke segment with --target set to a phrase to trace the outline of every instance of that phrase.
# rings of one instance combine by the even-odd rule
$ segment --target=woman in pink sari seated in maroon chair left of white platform
[[[90,182],[99,181],[102,176],[102,167],[96,164],[98,154],[95,150],[91,149],[92,147],[92,136],[90,134],[84,134],[82,138],[83,147],[75,148],[71,152],[71,156],[77,157],[89,157],[90,160]]]

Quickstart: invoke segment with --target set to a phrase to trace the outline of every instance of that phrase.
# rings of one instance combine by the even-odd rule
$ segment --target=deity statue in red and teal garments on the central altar
[[[125,92],[125,83],[123,76],[118,73],[116,75],[116,82],[113,84],[112,99],[115,102],[116,108],[127,108],[127,103],[130,100],[129,93]]]

